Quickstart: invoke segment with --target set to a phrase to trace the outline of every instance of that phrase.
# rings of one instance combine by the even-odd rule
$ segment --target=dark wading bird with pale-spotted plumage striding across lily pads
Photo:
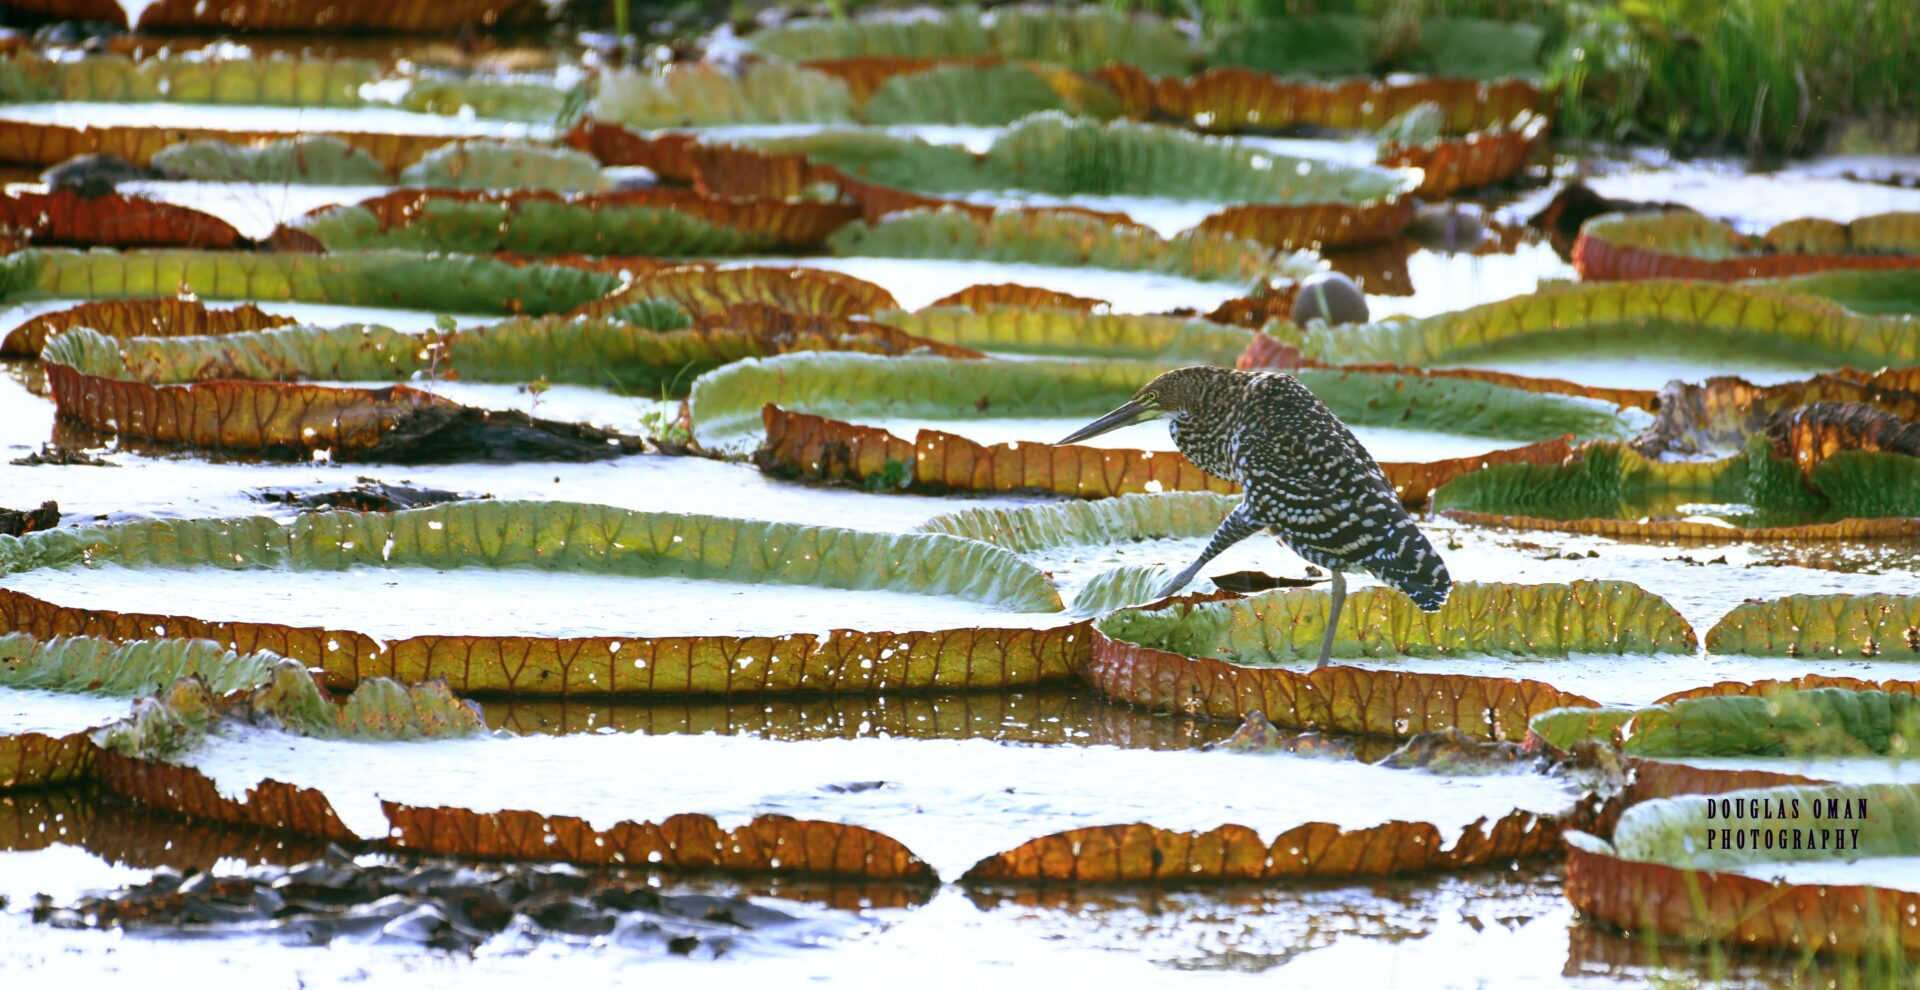
[[[1246,499],[1213,531],[1200,558],[1158,597],[1173,595],[1227,547],[1267,530],[1309,564],[1332,574],[1332,608],[1321,662],[1346,602],[1348,570],[1363,570],[1434,612],[1453,579],[1386,483],[1373,455],[1298,378],[1229,368],[1177,368],[1060,443],[1165,416],[1173,443],[1200,470],[1238,482]]]

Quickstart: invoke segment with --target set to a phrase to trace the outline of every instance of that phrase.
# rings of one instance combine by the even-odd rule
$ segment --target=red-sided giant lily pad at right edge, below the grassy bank
[[[1617,213],[1580,226],[1582,278],[1778,278],[1834,269],[1920,269],[1920,213],[1841,224],[1788,221],[1745,236],[1699,213]]]

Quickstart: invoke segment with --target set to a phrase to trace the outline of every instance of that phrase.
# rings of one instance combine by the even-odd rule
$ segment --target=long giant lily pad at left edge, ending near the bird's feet
[[[461,693],[536,695],[977,689],[1068,677],[1087,645],[1083,625],[1050,624],[1060,610],[1060,595],[1031,564],[985,543],[933,533],[885,535],[572,503],[488,501],[394,514],[307,514],[292,526],[257,518],[144,522],[0,539],[0,568],[8,572],[71,568],[84,560],[96,566],[240,568],[252,574],[541,568],[622,579],[891,591],[927,595],[929,608],[943,597],[973,602],[966,606],[972,624],[941,631],[649,637],[647,620],[636,620],[632,633],[637,635],[436,633],[380,641],[346,629],[278,622],[67,608],[0,589],[0,612],[6,614],[0,629],[38,635],[86,631],[111,639],[207,637],[234,648],[271,648],[319,666],[336,687],[367,677],[403,683],[440,677]],[[38,578],[21,576],[8,585],[23,587],[29,579],[65,585],[71,578],[84,576],[38,572]],[[636,581],[634,587],[645,593],[647,585]],[[710,585],[703,595],[714,587],[724,585]],[[991,627],[995,616],[1012,620],[1016,614],[1020,627]],[[977,627],[979,622],[987,627]]]

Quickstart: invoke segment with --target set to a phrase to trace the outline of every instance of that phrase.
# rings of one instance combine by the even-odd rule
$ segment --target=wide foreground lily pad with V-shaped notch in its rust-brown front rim
[[[632,854],[630,842],[657,833],[645,823],[664,825],[691,812],[691,823],[718,825],[716,838],[735,823],[758,819],[760,829],[735,833],[741,848],[732,861],[697,858],[676,865],[793,869],[787,863],[799,860],[816,865],[843,863],[845,873],[858,875],[868,869],[876,838],[883,838],[879,848],[910,850],[910,856],[904,861],[885,856],[872,869],[922,879],[958,879],[972,869],[981,869],[973,873],[977,879],[1046,879],[1044,873],[1027,873],[1027,867],[1016,865],[1033,856],[1025,844],[1039,838],[1046,848],[1064,850],[1073,835],[1068,829],[1081,829],[1087,821],[1112,825],[1117,833],[1142,823],[1148,838],[1202,833],[1187,837],[1196,846],[1196,856],[1181,858],[1187,869],[1179,879],[1185,881],[1246,879],[1248,863],[1242,856],[1206,863],[1198,852],[1215,844],[1238,852],[1252,844],[1260,850],[1254,860],[1258,867],[1265,850],[1283,837],[1306,838],[1309,848],[1286,856],[1286,865],[1275,869],[1273,877],[1388,875],[1450,865],[1444,854],[1423,844],[1438,840],[1444,846],[1446,838],[1463,831],[1478,833],[1490,819],[1507,817],[1515,808],[1521,813],[1501,833],[1551,835],[1549,817],[1572,804],[1572,792],[1563,781],[1538,773],[1442,777],[1279,754],[1008,748],[981,741],[536,737],[409,746],[413,752],[405,756],[413,766],[426,762],[432,771],[376,783],[365,773],[372,767],[340,760],[336,746],[288,739],[282,746],[273,746],[286,752],[271,752],[248,741],[209,741],[188,760],[228,790],[261,773],[319,790],[330,798],[340,819],[361,835],[386,837],[394,825],[403,823],[399,835],[409,838],[407,844],[419,842],[430,852],[536,860],[580,856],[588,863],[618,863]],[[626,750],[628,756],[616,766],[628,783],[597,783],[607,764],[568,756],[582,746],[597,752],[609,746]],[[286,760],[288,754],[300,760]],[[369,760],[386,764],[394,756],[372,752]],[[858,762],[883,783],[847,787],[837,769],[843,762]],[[708,773],[664,777],[678,766],[703,766]],[[937,781],[927,777],[929,766],[941,767]],[[1267,769],[1277,771],[1275,787],[1246,789],[1233,783]],[[1119,785],[1140,773],[1154,775],[1164,787],[1142,792]],[[555,787],[557,781],[568,783]],[[785,821],[787,831],[781,833],[776,829],[780,821],[760,817],[764,812],[756,806],[770,800],[776,792],[770,789],[789,794],[783,810],[818,823],[810,829],[818,833],[818,840],[808,840],[808,829],[795,827],[797,823]],[[386,794],[386,800],[374,796],[374,790]],[[762,792],[768,796],[762,798]],[[1179,798],[1169,800],[1175,794]],[[1304,802],[1306,794],[1319,798]],[[1452,800],[1438,800],[1438,794]],[[1432,804],[1423,806],[1421,800]],[[954,829],[948,815],[927,813],[945,810],[948,802],[970,810],[964,829]],[[499,817],[490,823],[493,813]],[[1240,827],[1221,829],[1225,821]],[[1309,825],[1313,821],[1321,825]],[[1421,821],[1428,825],[1415,825]],[[776,842],[768,842],[770,838]],[[845,858],[831,856],[835,838],[847,842]],[[1532,842],[1521,838],[1505,835],[1501,844],[1509,854],[1524,856],[1528,850],[1544,850],[1548,837],[1534,837]],[[695,850],[705,846],[707,842],[697,842]],[[1129,858],[1139,852],[1135,842],[1125,846]],[[1482,856],[1492,852],[1476,840],[1465,840],[1463,846],[1480,848]],[[1373,850],[1371,856],[1354,856],[1367,848]],[[1112,869],[1098,854],[1110,850],[1112,846],[1094,842],[1089,850],[1092,856],[1073,877],[1098,881],[1104,869]],[[1327,858],[1315,856],[1319,852],[1327,852]],[[645,844],[639,854],[649,861],[666,860]],[[993,865],[977,867],[983,861]],[[1475,861],[1484,860],[1455,865]],[[1052,869],[1062,865],[1052,863]],[[1127,867],[1125,873],[1137,867]],[[1173,875],[1162,871],[1142,879]]]

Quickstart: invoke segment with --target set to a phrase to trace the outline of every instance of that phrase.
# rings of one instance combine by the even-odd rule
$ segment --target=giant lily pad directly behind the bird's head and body
[[[1165,365],[1140,361],[987,365],[910,357],[876,365],[822,357],[741,363],[695,382],[689,409],[693,436],[705,447],[743,453],[760,441],[756,460],[778,474],[879,489],[1041,489],[1077,497],[1233,491],[1169,443],[1150,451],[1050,445],[1048,437],[1119,405],[1160,370]],[[1473,380],[1306,370],[1302,382],[1359,428],[1363,441],[1371,436],[1379,443],[1398,443],[1405,434],[1396,430],[1423,428],[1490,439],[1528,439],[1561,428],[1620,430],[1620,420],[1597,403]],[[860,420],[924,426],[906,439],[887,428],[860,426]],[[1116,443],[1160,445],[1160,434],[1146,436],[1150,430],[1158,428],[1140,428],[1140,436]],[[1008,441],[987,445],[968,439],[968,432]],[[1457,474],[1511,460],[1551,462],[1567,453],[1567,443],[1551,437],[1446,460],[1390,460],[1384,470],[1404,499],[1423,503],[1434,485]]]

